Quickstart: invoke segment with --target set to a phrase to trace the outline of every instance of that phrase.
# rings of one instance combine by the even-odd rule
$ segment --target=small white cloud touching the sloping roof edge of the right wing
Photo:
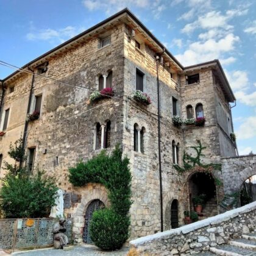
[[[225,74],[227,76],[227,80],[229,80],[229,84],[232,88],[232,90],[236,91],[242,91],[247,89],[249,79],[247,76],[247,72],[244,70],[234,70],[234,71],[227,71],[225,70]]]

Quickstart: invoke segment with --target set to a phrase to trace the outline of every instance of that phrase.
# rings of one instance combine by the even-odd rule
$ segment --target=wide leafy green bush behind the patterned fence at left
[[[54,206],[56,191],[54,179],[7,174],[0,190],[0,208],[5,218],[48,217]]]

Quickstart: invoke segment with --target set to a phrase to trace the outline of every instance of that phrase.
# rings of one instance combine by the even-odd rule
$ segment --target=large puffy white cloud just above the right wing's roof
[[[193,65],[209,60],[220,59],[223,54],[230,52],[235,48],[235,43],[239,41],[239,37],[232,33],[220,40],[209,39],[205,42],[196,41],[188,46],[188,49],[183,54],[176,55],[176,58],[185,66]],[[230,63],[232,59],[222,59],[222,62]]]

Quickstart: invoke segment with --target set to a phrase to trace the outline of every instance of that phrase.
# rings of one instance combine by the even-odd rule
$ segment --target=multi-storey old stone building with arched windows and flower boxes
[[[73,187],[68,168],[103,148],[112,151],[116,143],[130,158],[132,238],[183,225],[183,211],[193,208],[191,197],[209,187],[204,216],[221,210],[224,189],[216,189],[212,176],[179,174],[173,167],[182,166],[184,150],[193,154],[190,146],[197,140],[206,146],[205,163],[236,156],[230,137],[235,96],[218,60],[182,66],[124,9],[1,82],[1,162],[10,162],[10,143],[23,137],[30,171],[43,169],[65,190],[65,214],[74,218],[76,241],[90,242],[91,213],[108,199],[103,185]],[[89,101],[94,90],[110,87],[113,97]],[[136,90],[152,103],[135,101]],[[204,117],[205,124],[176,127],[172,116]],[[223,179],[221,172],[215,175]]]

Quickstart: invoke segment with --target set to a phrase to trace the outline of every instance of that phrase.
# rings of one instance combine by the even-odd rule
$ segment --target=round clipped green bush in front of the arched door
[[[107,251],[120,249],[129,238],[129,226],[128,216],[119,215],[112,209],[98,210],[90,222],[91,240]]]

